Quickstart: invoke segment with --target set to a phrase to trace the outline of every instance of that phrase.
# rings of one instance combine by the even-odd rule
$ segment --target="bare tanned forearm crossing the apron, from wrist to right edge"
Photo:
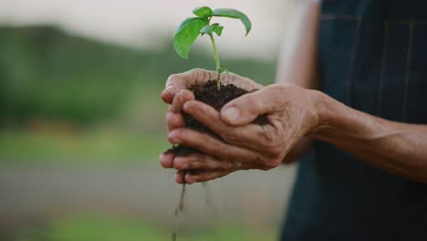
[[[311,137],[390,173],[427,183],[427,125],[386,121],[320,95],[320,125]]]

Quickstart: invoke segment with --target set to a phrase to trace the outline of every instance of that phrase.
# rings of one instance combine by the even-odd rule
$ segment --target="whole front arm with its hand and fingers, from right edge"
[[[376,118],[318,90],[280,83],[232,100],[220,112],[196,100],[182,109],[221,137],[185,128],[169,132],[172,143],[203,153],[175,158],[177,170],[202,171],[186,175],[186,183],[275,168],[303,137],[327,141],[384,171],[427,183],[427,125]],[[261,114],[271,123],[251,124]]]

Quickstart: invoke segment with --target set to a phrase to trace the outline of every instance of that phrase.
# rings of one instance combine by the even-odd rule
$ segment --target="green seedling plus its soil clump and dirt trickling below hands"
[[[246,30],[246,36],[249,34],[252,24],[251,21],[247,16],[245,16],[244,13],[230,9],[230,8],[218,8],[218,9],[211,9],[208,6],[200,6],[193,10],[194,17],[189,17],[185,19],[180,26],[176,29],[175,37],[173,39],[173,46],[175,47],[175,50],[177,54],[181,58],[188,58],[190,48],[193,46],[194,41],[199,36],[208,36],[212,42],[213,47],[213,58],[215,59],[215,66],[216,66],[216,89],[220,90],[221,88],[221,73],[227,71],[226,68],[224,68],[221,65],[220,59],[218,57],[218,49],[216,48],[214,35],[217,37],[221,37],[223,34],[224,26],[221,26],[218,23],[211,24],[211,21],[213,19],[213,16],[222,16],[222,17],[229,17],[229,18],[235,18],[240,19],[242,23],[245,26]],[[221,91],[215,91],[215,82],[213,82],[213,79],[209,79],[210,81],[207,81],[204,86],[192,86],[189,89],[193,91],[195,100],[199,100],[205,104],[210,105],[215,110],[220,110],[224,105],[234,100],[235,98],[238,98],[246,93],[250,93],[247,89],[241,89],[237,86],[234,86],[233,84],[225,85]],[[202,122],[199,122],[195,120],[192,116],[188,115],[187,113],[182,113],[185,127],[191,128],[194,131],[201,131],[213,136],[216,136],[216,134],[209,130]],[[259,116],[254,121],[255,124],[264,125],[269,123],[266,115]],[[171,149],[166,151],[165,153],[172,153],[173,156],[188,156],[190,154],[197,154],[200,153],[200,151],[193,149],[189,146],[184,146],[181,144],[173,145]],[[182,170],[181,172],[184,173],[186,176],[188,174],[195,174],[198,173],[199,170]],[[184,198],[184,192],[185,192],[185,178],[183,180],[182,184],[182,194],[180,203],[175,211],[175,218],[178,217],[178,215],[182,212],[184,212],[183,209],[183,198]],[[204,186],[204,185],[203,185]],[[206,187],[204,187],[206,188]],[[207,205],[210,205],[206,201]],[[177,231],[175,230],[172,233],[172,240],[176,240]]]

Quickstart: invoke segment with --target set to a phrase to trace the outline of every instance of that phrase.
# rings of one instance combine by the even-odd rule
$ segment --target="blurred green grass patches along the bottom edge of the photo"
[[[275,240],[273,232],[255,233],[248,227],[217,225],[189,227],[189,232],[178,234],[180,241],[255,241]],[[109,216],[75,215],[50,220],[41,227],[30,227],[16,234],[14,240],[55,241],[170,241],[171,231],[141,220]]]

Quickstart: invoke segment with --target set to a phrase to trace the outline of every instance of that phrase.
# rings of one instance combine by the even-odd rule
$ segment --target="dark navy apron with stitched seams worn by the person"
[[[387,120],[426,124],[427,1],[324,0],[321,12],[321,90]],[[299,162],[281,238],[427,240],[427,185],[318,141]]]

